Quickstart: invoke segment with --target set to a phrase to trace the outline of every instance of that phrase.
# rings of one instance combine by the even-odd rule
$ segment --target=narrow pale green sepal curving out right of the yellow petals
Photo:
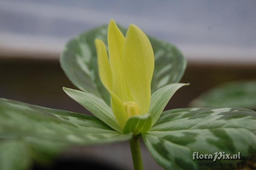
[[[164,107],[168,103],[168,101],[171,99],[171,97],[174,95],[174,93],[182,86],[185,86],[188,84],[184,83],[173,83],[166,85],[164,87],[161,87],[157,91],[154,92],[154,94],[151,96],[150,100],[150,106],[148,113],[152,115],[152,125],[154,125],[163,112]]]

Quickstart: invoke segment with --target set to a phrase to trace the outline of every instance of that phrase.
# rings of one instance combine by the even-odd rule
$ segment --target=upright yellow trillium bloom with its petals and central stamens
[[[102,40],[96,39],[99,77],[111,96],[111,108],[119,126],[137,115],[148,114],[154,53],[145,33],[130,24],[126,37],[110,20],[108,51]]]

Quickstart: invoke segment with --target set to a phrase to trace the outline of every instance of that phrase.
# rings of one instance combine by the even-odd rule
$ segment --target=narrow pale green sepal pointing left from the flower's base
[[[68,96],[72,99],[80,103],[83,107],[85,107],[89,112],[91,112],[94,116],[105,122],[111,128],[118,132],[122,132],[121,128],[116,121],[114,114],[111,108],[99,97],[70,88],[63,88]]]

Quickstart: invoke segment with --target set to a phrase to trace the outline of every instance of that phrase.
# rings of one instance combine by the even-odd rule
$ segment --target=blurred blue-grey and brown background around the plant
[[[178,90],[166,109],[191,106],[193,99],[225,82],[256,80],[255,0],[1,0],[0,97],[88,114],[62,91],[75,87],[59,56],[68,39],[111,18],[175,44],[186,57],[181,82],[190,86]],[[145,169],[160,169],[142,149]],[[132,169],[129,152],[127,143],[74,147],[57,166],[79,157],[83,164],[101,161]]]

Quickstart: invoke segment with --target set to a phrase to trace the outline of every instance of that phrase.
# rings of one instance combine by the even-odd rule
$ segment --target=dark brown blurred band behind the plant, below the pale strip
[[[255,80],[254,64],[196,64],[189,62],[179,89],[165,109],[188,107],[191,100],[212,87],[235,80]],[[77,89],[58,60],[0,59],[0,97],[44,107],[90,114],[69,98],[62,87]]]

